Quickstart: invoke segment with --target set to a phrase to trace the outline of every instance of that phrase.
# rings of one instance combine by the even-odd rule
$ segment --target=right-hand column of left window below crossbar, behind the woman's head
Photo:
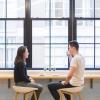
[[[23,45],[23,21],[7,21],[6,25],[6,67],[13,68],[16,51]]]

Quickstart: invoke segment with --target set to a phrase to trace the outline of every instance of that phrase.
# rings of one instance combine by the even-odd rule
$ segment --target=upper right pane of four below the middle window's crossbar
[[[68,43],[68,21],[61,21],[61,20],[52,21],[51,42]]]

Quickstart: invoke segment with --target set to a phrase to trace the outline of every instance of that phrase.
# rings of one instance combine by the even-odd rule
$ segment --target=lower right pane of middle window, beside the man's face
[[[68,45],[51,45],[51,67],[68,68]]]

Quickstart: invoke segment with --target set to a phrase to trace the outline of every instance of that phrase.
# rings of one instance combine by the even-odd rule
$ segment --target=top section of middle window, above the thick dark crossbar
[[[69,17],[69,0],[31,0],[31,17]]]

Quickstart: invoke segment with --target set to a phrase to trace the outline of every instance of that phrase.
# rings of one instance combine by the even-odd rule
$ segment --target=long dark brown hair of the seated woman
[[[20,46],[17,50],[17,55],[15,57],[15,61],[14,61],[14,64],[20,62],[20,61],[24,61],[23,59],[23,54],[25,53],[25,50],[26,50],[26,46]]]

